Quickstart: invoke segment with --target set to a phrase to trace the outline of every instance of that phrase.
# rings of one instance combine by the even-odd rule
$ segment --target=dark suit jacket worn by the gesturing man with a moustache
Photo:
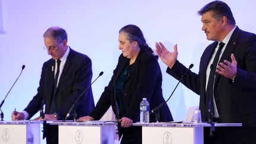
[[[200,60],[199,73],[189,71],[181,81],[186,87],[200,95],[199,108],[206,120],[206,69],[212,53],[217,46],[213,42],[204,50]],[[225,76],[215,76],[214,96],[221,123],[242,123],[243,126],[256,126],[256,35],[236,27],[229,40],[220,62],[237,61],[235,82]],[[167,72],[180,79],[187,70],[180,62],[175,62]]]

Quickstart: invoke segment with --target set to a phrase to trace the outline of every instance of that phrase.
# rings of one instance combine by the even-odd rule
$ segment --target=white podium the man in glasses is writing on
[[[0,143],[40,144],[41,121],[0,121]]]

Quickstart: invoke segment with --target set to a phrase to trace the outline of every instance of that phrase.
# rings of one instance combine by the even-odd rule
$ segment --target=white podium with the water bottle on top
[[[208,123],[133,123],[142,126],[142,143],[203,144],[203,127]],[[242,126],[241,123],[215,123],[215,127]]]

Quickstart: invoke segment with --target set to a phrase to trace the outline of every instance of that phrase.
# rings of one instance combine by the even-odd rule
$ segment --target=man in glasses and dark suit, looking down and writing
[[[43,64],[37,94],[23,112],[12,113],[12,120],[30,119],[44,104],[44,120],[65,119],[72,104],[91,84],[91,59],[75,52],[67,45],[68,37],[63,28],[51,27],[43,37],[45,49],[52,59]],[[89,114],[92,108],[94,108],[94,99],[92,89],[89,87],[76,103],[74,113],[81,117]],[[44,135],[48,144],[58,143],[57,126],[44,126]]]

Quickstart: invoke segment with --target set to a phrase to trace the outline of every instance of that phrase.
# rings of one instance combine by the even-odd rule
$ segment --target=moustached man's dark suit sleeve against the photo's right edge
[[[256,36],[247,38],[239,46],[245,47],[243,52],[234,53],[238,61],[238,69],[233,85],[249,91],[256,91]]]

